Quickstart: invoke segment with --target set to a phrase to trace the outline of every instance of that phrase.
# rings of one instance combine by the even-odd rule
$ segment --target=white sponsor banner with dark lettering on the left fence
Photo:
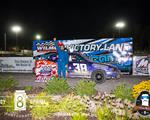
[[[0,72],[32,73],[32,57],[0,57]]]

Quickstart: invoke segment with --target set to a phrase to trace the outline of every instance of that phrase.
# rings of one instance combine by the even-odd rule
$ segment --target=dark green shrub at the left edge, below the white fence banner
[[[0,79],[0,91],[13,90],[18,85],[18,82],[13,77]]]

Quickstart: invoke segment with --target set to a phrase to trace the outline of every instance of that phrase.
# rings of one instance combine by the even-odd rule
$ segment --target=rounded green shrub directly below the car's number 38
[[[80,96],[92,96],[96,93],[95,87],[96,83],[93,81],[80,80],[75,86],[75,93]]]

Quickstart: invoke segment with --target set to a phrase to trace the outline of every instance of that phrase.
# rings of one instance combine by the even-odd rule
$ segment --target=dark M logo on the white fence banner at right
[[[148,73],[148,63],[149,63],[149,60],[147,57],[138,60],[136,62],[136,72],[147,74]]]

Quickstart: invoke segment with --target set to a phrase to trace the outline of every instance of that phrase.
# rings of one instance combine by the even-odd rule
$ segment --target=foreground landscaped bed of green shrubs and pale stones
[[[52,84],[59,84],[62,88],[50,89]],[[63,89],[63,85],[65,88]],[[86,85],[87,84],[87,85]],[[140,83],[141,84],[141,83]],[[142,83],[143,84],[143,83]],[[135,103],[132,96],[125,96],[131,90],[125,85],[117,86],[111,93],[95,92],[95,83],[80,81],[75,88],[68,88],[66,82],[55,81],[46,85],[49,89],[26,87],[27,110],[7,111],[5,106],[0,108],[0,119],[10,120],[127,120],[140,119],[138,113],[133,113]],[[67,87],[66,87],[67,86]],[[86,90],[86,89],[87,90]],[[135,87],[133,88],[133,90]],[[59,92],[60,94],[58,94]],[[74,91],[75,90],[75,91]],[[64,93],[62,91],[65,91]],[[57,94],[54,94],[57,93]],[[5,95],[10,95],[9,92]],[[120,97],[121,96],[121,97]],[[8,100],[8,103],[11,100]],[[11,103],[13,104],[13,103]],[[12,110],[12,109],[11,109]]]

